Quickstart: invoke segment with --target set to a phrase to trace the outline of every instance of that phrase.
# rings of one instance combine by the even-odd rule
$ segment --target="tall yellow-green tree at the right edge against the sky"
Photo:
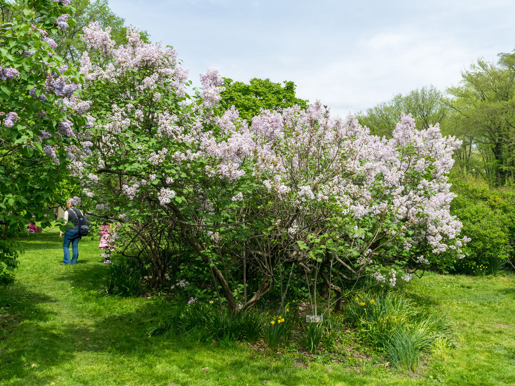
[[[515,171],[515,54],[501,53],[497,63],[479,59],[462,78],[448,89],[455,112],[450,127],[465,140],[458,159],[490,184],[504,185]]]

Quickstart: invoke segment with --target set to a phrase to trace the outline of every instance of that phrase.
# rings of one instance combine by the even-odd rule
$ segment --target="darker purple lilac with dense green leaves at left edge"
[[[73,25],[67,4],[22,0],[24,12],[12,10],[0,26],[0,219],[12,228],[32,216],[49,225],[48,206],[62,199],[55,183],[80,157],[87,136],[80,75],[62,65],[48,38],[61,21]]]

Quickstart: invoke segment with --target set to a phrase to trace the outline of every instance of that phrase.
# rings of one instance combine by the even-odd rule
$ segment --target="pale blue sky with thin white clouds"
[[[515,2],[110,0],[127,23],[173,46],[190,79],[208,67],[248,82],[294,81],[334,115],[433,84],[515,47]]]

